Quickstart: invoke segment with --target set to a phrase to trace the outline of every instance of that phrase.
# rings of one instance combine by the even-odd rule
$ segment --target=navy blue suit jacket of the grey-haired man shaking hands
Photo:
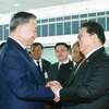
[[[0,109],[45,109],[53,93],[44,86],[33,59],[16,41],[8,38],[0,55]]]

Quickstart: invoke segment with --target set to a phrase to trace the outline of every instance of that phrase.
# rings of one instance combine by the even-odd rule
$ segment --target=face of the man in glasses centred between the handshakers
[[[66,49],[64,45],[59,45],[56,48],[56,57],[59,61],[64,62],[68,60],[68,56],[70,55],[70,51]]]

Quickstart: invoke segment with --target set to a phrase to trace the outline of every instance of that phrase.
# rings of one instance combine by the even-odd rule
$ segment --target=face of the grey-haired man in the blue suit
[[[31,19],[27,24],[21,26],[21,41],[24,46],[31,46],[37,37],[37,23]]]

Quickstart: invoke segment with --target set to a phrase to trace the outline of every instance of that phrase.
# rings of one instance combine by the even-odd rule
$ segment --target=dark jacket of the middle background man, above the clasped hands
[[[69,63],[62,64],[60,66],[60,70],[58,70],[58,65],[59,65],[59,62],[49,66],[49,69],[48,69],[48,80],[49,81],[57,80],[60,83],[62,82],[62,84],[63,84],[64,83],[63,81],[66,82],[66,78],[69,78],[69,75],[71,74],[71,71],[73,69],[73,62],[69,61]],[[66,75],[65,80],[64,80],[64,74]]]

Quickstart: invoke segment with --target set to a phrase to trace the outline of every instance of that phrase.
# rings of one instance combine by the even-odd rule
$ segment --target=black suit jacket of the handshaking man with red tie
[[[76,68],[76,66],[75,66]],[[109,109],[109,56],[96,50],[60,90],[62,109]]]

